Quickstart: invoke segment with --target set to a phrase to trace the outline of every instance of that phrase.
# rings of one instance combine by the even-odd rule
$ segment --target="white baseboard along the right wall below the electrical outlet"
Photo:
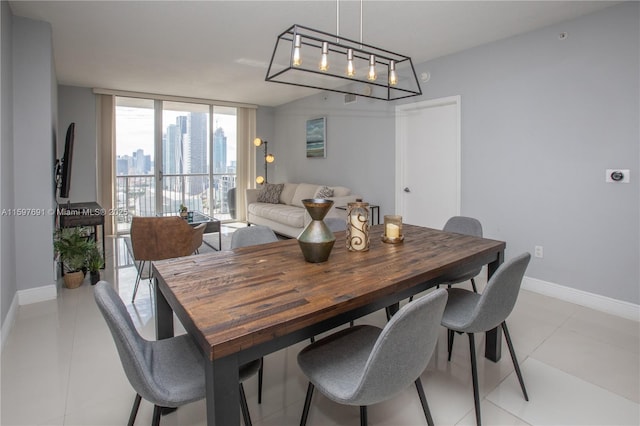
[[[640,305],[612,299],[599,294],[588,293],[575,288],[542,281],[537,278],[524,277],[522,288],[545,296],[555,297],[576,305],[595,309],[596,311],[616,315],[622,318],[640,322]]]

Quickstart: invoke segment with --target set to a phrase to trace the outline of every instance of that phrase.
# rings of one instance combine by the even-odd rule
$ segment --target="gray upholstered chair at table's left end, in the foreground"
[[[100,281],[94,297],[118,349],[125,374],[136,391],[128,425],[135,422],[142,398],[154,404],[153,425],[160,424],[164,407],[179,407],[205,397],[204,358],[192,338],[183,334],[169,339],[143,339],[113,286]],[[242,382],[258,372],[261,361],[240,367],[240,408],[246,426],[251,425]]]

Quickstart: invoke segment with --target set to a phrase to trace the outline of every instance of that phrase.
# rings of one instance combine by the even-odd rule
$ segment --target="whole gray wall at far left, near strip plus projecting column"
[[[52,235],[58,99],[51,26],[14,17],[7,2],[1,2],[1,7],[0,201],[8,212],[22,212],[0,219],[1,319],[6,331],[5,320],[17,292],[55,288]]]

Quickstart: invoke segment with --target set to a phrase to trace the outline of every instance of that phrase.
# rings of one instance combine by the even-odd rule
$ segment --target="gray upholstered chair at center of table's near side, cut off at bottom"
[[[438,340],[446,302],[446,290],[435,290],[403,306],[384,329],[349,327],[304,348],[298,365],[309,387],[300,424],[307,422],[314,388],[340,404],[360,406],[360,424],[366,425],[367,405],[415,383],[427,423],[433,425],[420,375]]]

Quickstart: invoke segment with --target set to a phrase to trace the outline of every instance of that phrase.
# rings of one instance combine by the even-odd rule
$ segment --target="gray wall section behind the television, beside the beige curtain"
[[[72,122],[76,123],[69,201],[96,201],[96,96],[89,88],[58,86],[58,111],[57,158],[64,153],[67,127]],[[67,199],[60,199],[60,202],[65,201]]]

